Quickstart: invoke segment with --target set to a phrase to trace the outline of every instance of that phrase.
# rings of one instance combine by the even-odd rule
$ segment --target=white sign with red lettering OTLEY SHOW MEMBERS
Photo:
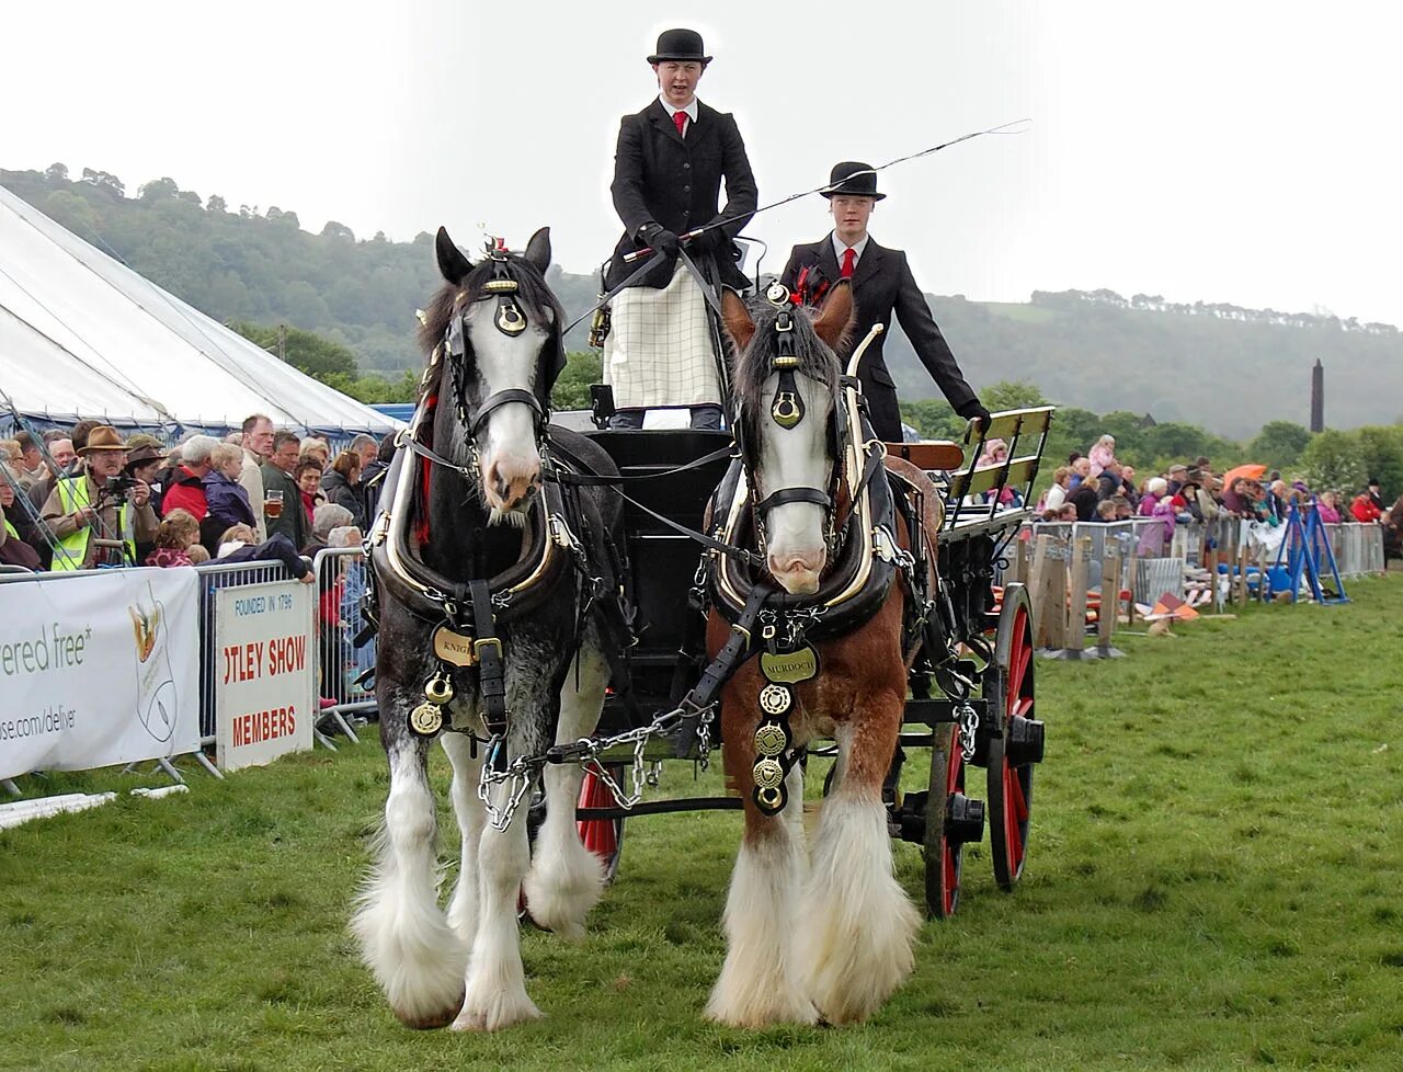
[[[300,581],[215,595],[215,739],[224,770],[311,748],[317,587]]]

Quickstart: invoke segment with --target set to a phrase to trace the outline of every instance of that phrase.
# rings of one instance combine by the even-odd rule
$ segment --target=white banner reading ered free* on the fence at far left
[[[0,582],[0,777],[196,751],[195,571]]]

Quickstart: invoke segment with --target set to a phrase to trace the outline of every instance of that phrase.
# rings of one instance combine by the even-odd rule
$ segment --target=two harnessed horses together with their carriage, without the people
[[[522,894],[537,923],[579,933],[627,817],[718,807],[741,808],[745,832],[707,1013],[866,1017],[913,960],[891,835],[925,847],[936,916],[955,909],[986,812],[999,884],[1023,871],[1042,724],[1027,595],[993,582],[1026,516],[1000,493],[1027,500],[1051,410],[996,414],[960,445],[884,445],[863,348],[846,369],[835,355],[849,288],[815,313],[772,288],[721,303],[728,432],[567,432],[549,422],[564,345],[546,234],[470,264],[441,232],[438,253],[421,404],[366,540],[390,794],[355,930],[391,1007],[473,1030],[537,1014]],[[1005,460],[975,464],[992,438]],[[435,741],[462,832],[446,916]],[[731,793],[641,800],[650,768],[716,746]],[[930,777],[901,794],[915,746]],[[835,763],[807,846],[819,752]]]

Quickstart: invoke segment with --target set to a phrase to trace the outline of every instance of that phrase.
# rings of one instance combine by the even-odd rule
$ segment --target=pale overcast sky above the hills
[[[7,4],[0,167],[55,161],[297,213],[358,237],[446,225],[593,271],[622,230],[619,118],[659,31],[716,56],[760,203],[881,164],[873,216],[922,289],[1110,288],[1403,324],[1403,6],[962,0]],[[762,268],[826,202],[758,216]]]

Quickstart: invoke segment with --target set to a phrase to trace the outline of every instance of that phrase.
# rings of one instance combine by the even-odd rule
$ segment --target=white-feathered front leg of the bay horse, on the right
[[[829,1023],[863,1020],[911,974],[920,916],[892,876],[880,798],[824,803],[803,905],[804,986]]]

